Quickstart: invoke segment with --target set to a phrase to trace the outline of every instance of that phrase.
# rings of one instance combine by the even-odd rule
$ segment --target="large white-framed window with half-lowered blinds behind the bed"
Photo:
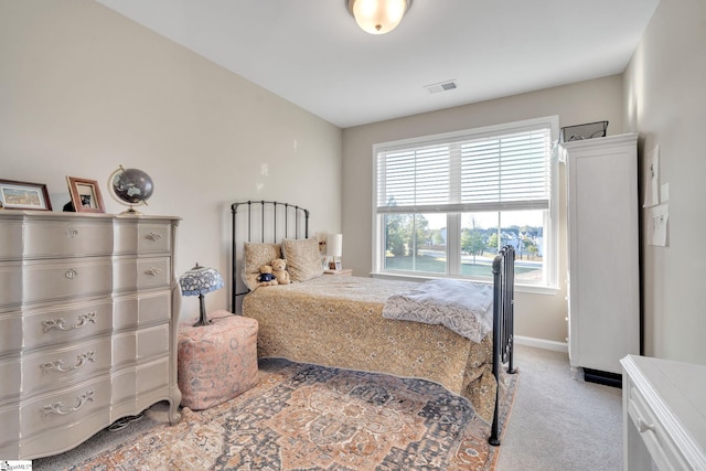
[[[374,270],[491,279],[515,247],[515,281],[556,286],[557,117],[374,148]]]

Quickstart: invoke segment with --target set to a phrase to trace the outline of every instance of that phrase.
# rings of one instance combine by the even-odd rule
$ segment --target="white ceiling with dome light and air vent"
[[[371,35],[345,0],[97,1],[341,128],[621,73],[659,3],[414,0]]]

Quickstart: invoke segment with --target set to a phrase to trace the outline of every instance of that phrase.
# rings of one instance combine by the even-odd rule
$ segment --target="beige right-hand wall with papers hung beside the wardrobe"
[[[642,210],[645,354],[706,364],[706,2],[662,0],[624,74],[625,127],[660,147],[670,185],[667,246],[646,245]],[[644,194],[644,188],[642,193]],[[641,200],[643,196],[641,196]]]

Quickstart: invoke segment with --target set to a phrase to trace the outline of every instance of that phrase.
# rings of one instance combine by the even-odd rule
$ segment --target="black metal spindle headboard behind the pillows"
[[[239,213],[238,213],[239,211]],[[236,311],[238,296],[239,270],[238,254],[242,254],[243,243],[280,243],[284,238],[309,237],[309,210],[295,204],[278,201],[239,201],[231,205],[233,217],[232,279],[231,279],[231,312]]]

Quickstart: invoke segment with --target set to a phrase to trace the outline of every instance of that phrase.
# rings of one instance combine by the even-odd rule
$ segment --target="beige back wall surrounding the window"
[[[559,126],[609,120],[622,132],[622,78],[611,76],[507,98],[394,119],[343,131],[343,259],[356,275],[372,269],[373,144],[558,115]],[[563,168],[560,181],[564,181]],[[559,285],[554,295],[517,292],[517,335],[566,342],[566,186],[560,190]]]

